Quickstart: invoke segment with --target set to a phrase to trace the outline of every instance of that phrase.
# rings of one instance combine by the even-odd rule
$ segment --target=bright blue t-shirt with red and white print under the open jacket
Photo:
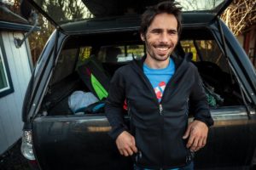
[[[175,72],[175,65],[173,60],[170,59],[169,65],[164,69],[152,69],[144,63],[143,71],[144,74],[148,77],[149,82],[151,82],[151,85],[154,88],[154,93],[160,102],[164,94],[166,84],[169,82]]]

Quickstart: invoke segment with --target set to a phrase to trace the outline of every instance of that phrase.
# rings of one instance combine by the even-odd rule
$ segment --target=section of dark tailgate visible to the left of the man
[[[131,169],[108,135],[106,116],[39,117],[32,127],[43,169]]]

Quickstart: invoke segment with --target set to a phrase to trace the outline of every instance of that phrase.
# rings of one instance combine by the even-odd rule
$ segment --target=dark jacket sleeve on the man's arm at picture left
[[[123,105],[125,101],[125,77],[121,70],[115,72],[110,82],[108,98],[106,100],[105,113],[112,127],[109,135],[116,139],[120,133],[128,130],[124,122]]]

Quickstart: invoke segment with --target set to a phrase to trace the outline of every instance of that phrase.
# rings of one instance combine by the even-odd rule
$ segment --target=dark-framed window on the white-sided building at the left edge
[[[0,98],[14,92],[4,51],[0,48]]]

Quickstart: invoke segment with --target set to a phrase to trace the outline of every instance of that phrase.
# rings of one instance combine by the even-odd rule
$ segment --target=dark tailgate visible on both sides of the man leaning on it
[[[211,113],[215,125],[209,130],[207,146],[195,153],[195,167],[249,164],[256,146],[256,120],[248,120],[247,111],[241,106]],[[125,121],[129,123],[127,116]],[[39,165],[43,169],[131,169],[131,157],[119,155],[108,135],[110,128],[103,115],[36,118],[32,129]],[[239,154],[233,154],[234,151]]]

